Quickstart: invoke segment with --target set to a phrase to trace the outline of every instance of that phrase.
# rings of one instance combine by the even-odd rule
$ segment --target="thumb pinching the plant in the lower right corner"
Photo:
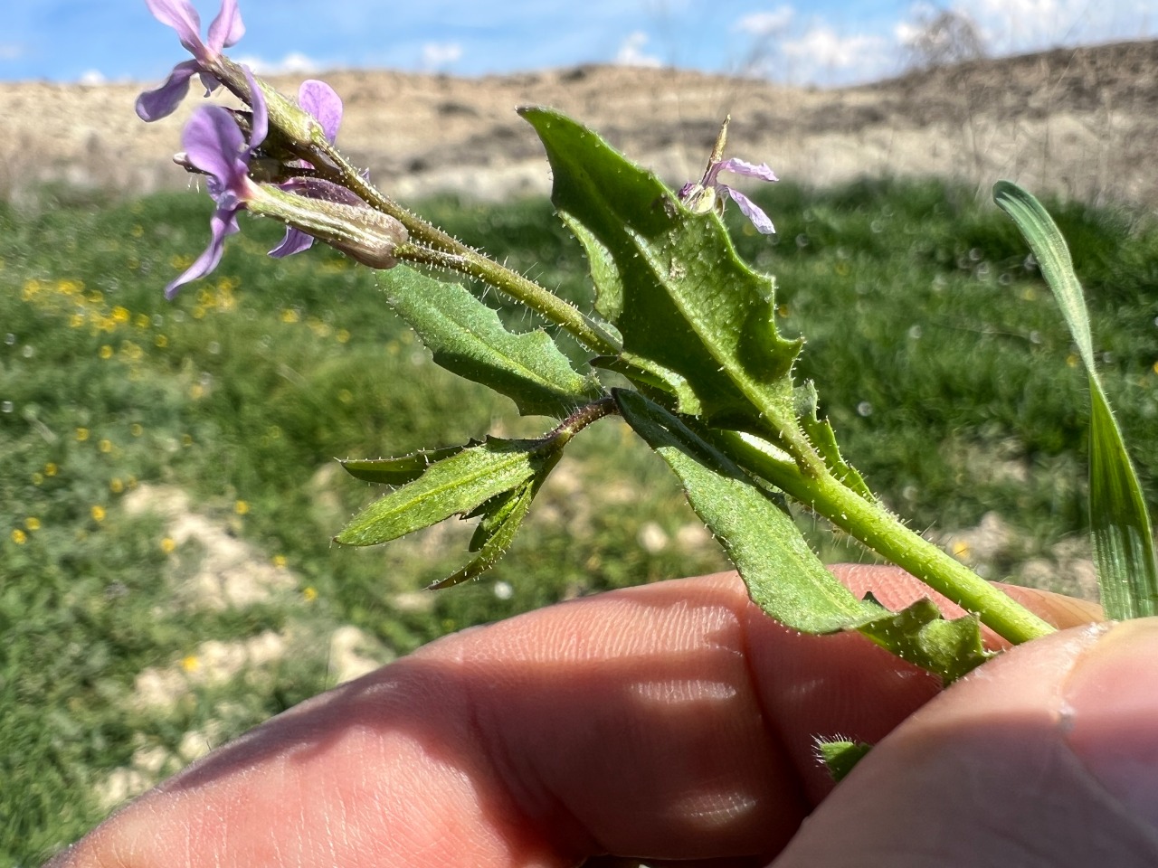
[[[1019,646],[891,733],[776,868],[1158,865],[1158,618]]]

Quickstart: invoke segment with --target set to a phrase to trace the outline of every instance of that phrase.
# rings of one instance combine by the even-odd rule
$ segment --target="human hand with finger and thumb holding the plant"
[[[891,606],[923,594],[895,569],[838,573]],[[1010,593],[1058,626],[1098,617]],[[1020,646],[939,693],[856,634],[780,627],[734,574],[687,579],[433,642],[52,865],[1152,866],[1156,712],[1153,620]],[[816,735],[879,744],[831,792]]]

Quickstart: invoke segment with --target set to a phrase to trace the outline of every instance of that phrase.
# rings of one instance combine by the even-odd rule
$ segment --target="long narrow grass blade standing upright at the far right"
[[[1102,608],[1115,619],[1158,615],[1153,528],[1122,432],[1098,378],[1090,318],[1069,248],[1041,203],[1021,187],[998,181],[994,200],[1029,243],[1090,378],[1090,518]]]

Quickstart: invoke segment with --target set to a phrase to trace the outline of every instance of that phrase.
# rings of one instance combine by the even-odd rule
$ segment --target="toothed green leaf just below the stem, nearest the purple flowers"
[[[523,415],[563,419],[602,397],[594,374],[576,373],[542,329],[510,332],[466,287],[403,265],[378,274],[387,302],[431,348],[437,363],[507,396]]]

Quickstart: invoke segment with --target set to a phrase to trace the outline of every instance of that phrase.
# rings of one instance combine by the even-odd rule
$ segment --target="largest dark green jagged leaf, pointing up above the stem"
[[[679,410],[713,424],[794,428],[800,341],[777,334],[774,281],[739,259],[719,216],[690,213],[654,175],[565,116],[520,113],[547,148],[551,200],[587,251],[598,307],[614,317],[629,369],[682,378],[695,400],[679,395]]]

